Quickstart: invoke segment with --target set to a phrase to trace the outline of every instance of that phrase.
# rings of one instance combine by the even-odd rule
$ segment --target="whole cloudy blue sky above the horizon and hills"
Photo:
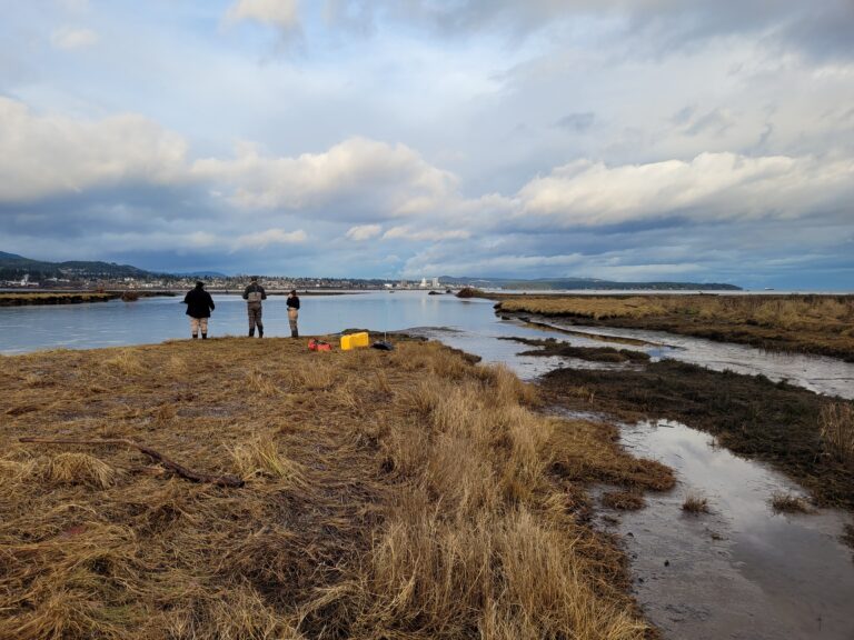
[[[854,290],[854,0],[0,14],[0,251]]]

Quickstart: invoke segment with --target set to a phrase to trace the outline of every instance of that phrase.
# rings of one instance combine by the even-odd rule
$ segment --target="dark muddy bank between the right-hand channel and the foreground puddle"
[[[637,370],[559,369],[546,398],[623,420],[678,420],[727,449],[771,462],[818,504],[854,508],[854,404],[761,376],[716,372],[674,360]]]

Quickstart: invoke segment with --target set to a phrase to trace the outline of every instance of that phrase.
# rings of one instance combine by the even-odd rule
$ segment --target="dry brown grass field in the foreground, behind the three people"
[[[651,637],[585,487],[673,476],[537,402],[431,342],[0,357],[0,638]]]

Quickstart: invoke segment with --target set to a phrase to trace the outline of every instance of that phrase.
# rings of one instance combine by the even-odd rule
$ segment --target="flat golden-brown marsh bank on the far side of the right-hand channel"
[[[499,311],[671,331],[854,362],[854,296],[509,297]]]

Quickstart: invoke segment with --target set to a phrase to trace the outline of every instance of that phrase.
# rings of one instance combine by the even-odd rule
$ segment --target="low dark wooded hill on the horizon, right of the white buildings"
[[[584,291],[603,290],[653,290],[653,291],[741,291],[741,287],[721,282],[617,282],[596,278],[539,278],[518,280],[510,278],[454,278],[443,276],[443,284],[471,284],[486,289],[525,289],[527,291]]]

